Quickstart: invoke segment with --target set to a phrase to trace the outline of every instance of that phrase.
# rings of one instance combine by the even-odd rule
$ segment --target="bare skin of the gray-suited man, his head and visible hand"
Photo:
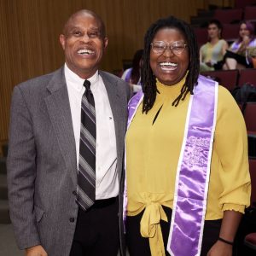
[[[102,20],[89,10],[73,14],[60,35],[67,67],[82,79],[93,76],[108,45]],[[36,245],[26,248],[26,256],[47,256],[44,247]]]

